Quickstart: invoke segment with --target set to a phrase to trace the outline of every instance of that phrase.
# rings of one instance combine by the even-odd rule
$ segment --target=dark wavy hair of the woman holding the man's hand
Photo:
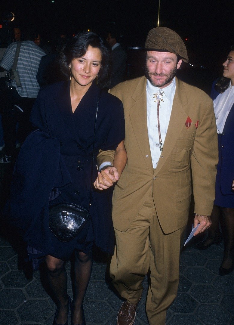
[[[102,54],[101,68],[98,73],[98,86],[100,88],[110,85],[111,52],[104,45],[100,36],[93,32],[79,32],[68,40],[60,52],[59,63],[61,71],[67,79],[70,79],[69,65],[72,59],[81,58],[87,52],[89,46],[99,48]]]

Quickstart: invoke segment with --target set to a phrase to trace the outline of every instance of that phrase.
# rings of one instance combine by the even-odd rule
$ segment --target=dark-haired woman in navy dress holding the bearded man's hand
[[[61,69],[68,77],[68,81],[59,82],[40,90],[32,109],[31,122],[40,130],[41,135],[39,133],[38,136],[37,132],[32,134],[25,146],[29,150],[35,150],[32,149],[35,148],[32,145],[34,141],[39,146],[38,154],[43,148],[44,151],[47,151],[46,153],[43,151],[43,155],[48,169],[51,169],[49,175],[54,174],[54,162],[51,160],[56,160],[56,170],[58,171],[56,175],[53,175],[55,178],[53,182],[60,185],[52,186],[51,193],[49,193],[50,201],[47,202],[47,206],[46,204],[43,205],[42,210],[47,211],[48,205],[50,207],[62,202],[75,203],[88,210],[91,181],[93,183],[98,176],[96,166],[98,151],[100,149],[115,150],[112,169],[116,177],[122,173],[125,167],[123,105],[118,98],[101,91],[96,85],[105,86],[110,68],[110,52],[97,34],[92,32],[77,34],[65,45],[60,61]],[[93,179],[91,180],[94,125],[98,98],[95,161]],[[41,138],[43,139],[41,140]],[[41,145],[41,143],[45,143],[45,145]],[[55,155],[54,158],[51,157],[52,153],[57,152],[58,148],[61,157],[58,158],[57,154],[56,158]],[[35,155],[37,155],[36,152]],[[68,173],[64,173],[64,165]],[[37,163],[37,166],[40,169],[42,168],[40,163]],[[31,166],[31,168],[34,167]],[[44,169],[45,174],[48,169]],[[43,180],[46,177],[43,172],[41,172],[41,177]],[[49,179],[44,182],[44,191],[47,187],[49,188],[52,176],[46,178]],[[43,187],[43,181],[41,183],[42,186],[39,186]],[[47,186],[47,184],[49,185]],[[43,191],[43,188],[41,190]],[[41,198],[39,197],[38,200],[40,201]],[[70,298],[67,295],[65,261],[74,252],[75,284],[72,324],[84,325],[83,300],[92,268],[93,242],[103,251],[113,253],[114,237],[110,193],[92,190],[89,212],[91,220],[85,224],[79,235],[69,242],[61,242],[53,235],[47,227],[48,218],[45,213],[43,213],[41,229],[38,229],[37,222],[37,227],[33,228],[33,225],[29,227],[30,231],[26,236],[26,241],[31,246],[31,258],[33,258],[33,253],[36,253],[34,257],[45,255],[48,281],[57,305],[54,325],[68,324]]]

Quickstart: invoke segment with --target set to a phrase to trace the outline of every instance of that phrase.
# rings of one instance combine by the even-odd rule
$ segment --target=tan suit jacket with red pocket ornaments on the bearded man
[[[116,229],[126,231],[151,188],[160,225],[168,234],[186,226],[192,187],[194,212],[211,215],[218,162],[213,101],[200,89],[176,78],[169,126],[154,171],[147,129],[146,82],[146,77],[140,77],[110,90],[123,102],[128,157],[114,189],[112,218]],[[188,116],[192,124],[187,128]],[[110,160],[107,153],[98,156],[98,163]]]

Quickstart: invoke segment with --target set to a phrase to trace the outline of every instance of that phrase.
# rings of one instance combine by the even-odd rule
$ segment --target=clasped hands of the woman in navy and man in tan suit
[[[101,172],[98,172],[98,177],[94,182],[94,187],[103,190],[113,186],[119,180],[119,173],[116,167],[108,166]]]

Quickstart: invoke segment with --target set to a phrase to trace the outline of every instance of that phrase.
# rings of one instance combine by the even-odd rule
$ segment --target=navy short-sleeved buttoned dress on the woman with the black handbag
[[[95,160],[93,164],[93,179],[91,180],[94,125],[98,98]],[[32,109],[31,122],[42,131],[44,137],[48,135],[49,139],[51,139],[50,141],[57,141],[52,142],[52,151],[54,150],[53,146],[56,147],[58,146],[57,143],[59,143],[62,163],[65,164],[65,168],[71,178],[71,182],[66,182],[68,183],[66,186],[51,187],[51,192],[46,197],[47,206],[60,202],[71,202],[81,205],[88,210],[91,182],[93,183],[98,175],[96,157],[99,149],[115,150],[124,139],[122,102],[109,93],[101,92],[93,83],[74,113],[72,113],[70,82],[60,82],[41,88]],[[33,136],[29,136],[29,140],[26,140],[25,146],[28,146],[27,148],[33,147],[29,142],[30,139],[33,141]],[[23,150],[24,146],[21,149]],[[39,151],[41,150],[39,149]],[[46,155],[45,152],[43,154]],[[48,162],[51,160],[50,155],[51,152],[48,152],[47,156],[45,156]],[[23,160],[24,156],[22,154],[21,156],[19,155],[19,159],[20,157]],[[31,168],[33,167],[31,166]],[[15,177],[17,178],[17,173],[14,174],[16,174]],[[43,179],[43,175],[41,176]],[[20,177],[22,178],[22,176]],[[63,178],[63,176],[60,178]],[[27,193],[25,196],[27,196]],[[67,260],[75,249],[87,253],[91,249],[93,242],[103,251],[113,253],[114,231],[111,219],[111,197],[112,188],[103,191],[92,189],[91,207],[89,210],[91,220],[86,223],[75,239],[66,243],[59,241],[53,235],[47,227],[47,220],[43,219],[44,223],[41,229],[38,229],[39,222],[37,222],[37,227],[33,227],[33,221],[31,221],[32,226],[29,227],[30,231],[28,231],[26,236],[27,243],[32,247],[32,253],[35,253],[34,255],[31,254],[31,258],[51,254],[54,257]],[[43,218],[45,218],[47,213],[47,206],[46,204],[43,206]],[[27,209],[26,204],[24,208]]]

